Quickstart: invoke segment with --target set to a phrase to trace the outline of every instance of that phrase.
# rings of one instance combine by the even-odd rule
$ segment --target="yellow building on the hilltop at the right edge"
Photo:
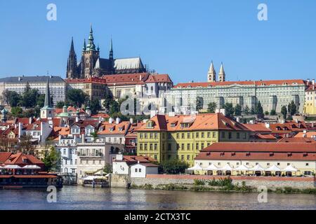
[[[310,83],[307,80],[307,89],[305,90],[305,103],[303,113],[307,115],[316,115],[316,87],[315,80]]]

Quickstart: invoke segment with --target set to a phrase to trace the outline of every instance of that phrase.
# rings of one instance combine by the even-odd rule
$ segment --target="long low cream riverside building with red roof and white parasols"
[[[191,167],[199,174],[315,176],[316,142],[221,142],[204,148]]]

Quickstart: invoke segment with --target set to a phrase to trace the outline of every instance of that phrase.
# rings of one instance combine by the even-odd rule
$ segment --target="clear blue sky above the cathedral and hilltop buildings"
[[[46,20],[48,3],[57,21]],[[228,80],[315,78],[315,12],[315,0],[1,1],[0,78],[65,77],[71,38],[80,59],[91,23],[101,57],[112,36],[114,57],[140,56],[174,83],[206,81],[211,60]]]

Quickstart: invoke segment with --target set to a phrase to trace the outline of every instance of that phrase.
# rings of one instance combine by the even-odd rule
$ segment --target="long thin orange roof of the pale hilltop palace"
[[[294,79],[294,80],[260,80],[260,81],[226,81],[226,82],[214,82],[214,83],[179,83],[174,86],[174,88],[187,88],[187,87],[216,87],[221,85],[287,85],[300,84],[305,85],[304,80]]]

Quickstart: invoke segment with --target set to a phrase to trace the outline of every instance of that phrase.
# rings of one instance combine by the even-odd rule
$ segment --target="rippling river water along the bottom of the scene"
[[[316,195],[268,193],[259,203],[256,193],[209,193],[64,186],[57,202],[48,203],[45,190],[0,190],[0,209],[103,210],[103,209],[314,209]]]

